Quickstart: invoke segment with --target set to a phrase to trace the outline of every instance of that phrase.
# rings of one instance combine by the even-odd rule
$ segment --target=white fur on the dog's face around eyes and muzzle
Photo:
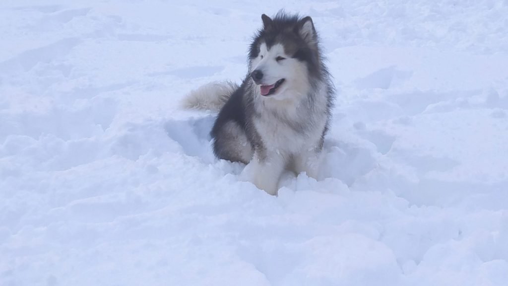
[[[251,60],[250,67],[250,72],[254,70],[263,72],[262,85],[271,85],[277,80],[284,79],[274,94],[269,96],[260,94],[262,98],[297,100],[307,96],[310,90],[307,66],[285,54],[281,44],[275,44],[268,49],[265,43],[261,43],[260,52],[257,58]],[[260,93],[260,85],[256,85],[256,89]]]

